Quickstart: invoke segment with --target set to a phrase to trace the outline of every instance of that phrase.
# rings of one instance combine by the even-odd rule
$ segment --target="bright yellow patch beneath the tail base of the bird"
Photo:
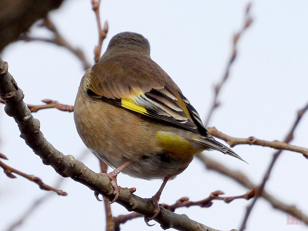
[[[165,151],[171,152],[178,158],[188,158],[202,151],[193,149],[188,140],[173,132],[156,132],[155,137]]]

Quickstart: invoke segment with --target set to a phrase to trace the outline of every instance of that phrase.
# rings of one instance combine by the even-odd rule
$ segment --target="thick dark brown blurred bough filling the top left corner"
[[[63,0],[2,0],[0,7],[0,52],[30,26],[51,10],[58,8]]]

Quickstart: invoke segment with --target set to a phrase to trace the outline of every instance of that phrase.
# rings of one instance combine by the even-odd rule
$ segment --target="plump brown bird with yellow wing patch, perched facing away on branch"
[[[150,57],[141,34],[122,32],[110,40],[99,61],[83,75],[74,105],[74,120],[83,143],[114,168],[117,175],[163,180],[151,198],[158,201],[168,180],[183,172],[193,156],[217,150],[244,161],[211,136],[196,109],[169,75]]]

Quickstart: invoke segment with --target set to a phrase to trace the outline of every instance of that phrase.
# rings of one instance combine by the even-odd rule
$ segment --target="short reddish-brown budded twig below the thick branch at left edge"
[[[6,174],[7,177],[16,178],[16,176],[14,174],[12,174],[12,173],[16,173],[19,176],[25,177],[26,179],[33,181],[35,184],[39,185],[40,189],[43,189],[43,190],[46,190],[46,191],[54,191],[60,196],[67,196],[66,192],[63,192],[60,189],[56,189],[56,188],[53,188],[53,187],[51,187],[47,184],[44,184],[43,181],[39,177],[33,176],[33,175],[28,175],[26,173],[20,172],[17,169],[12,168],[12,167],[4,164],[1,160],[0,160],[0,167],[3,168],[3,171],[4,171],[4,173]]]

